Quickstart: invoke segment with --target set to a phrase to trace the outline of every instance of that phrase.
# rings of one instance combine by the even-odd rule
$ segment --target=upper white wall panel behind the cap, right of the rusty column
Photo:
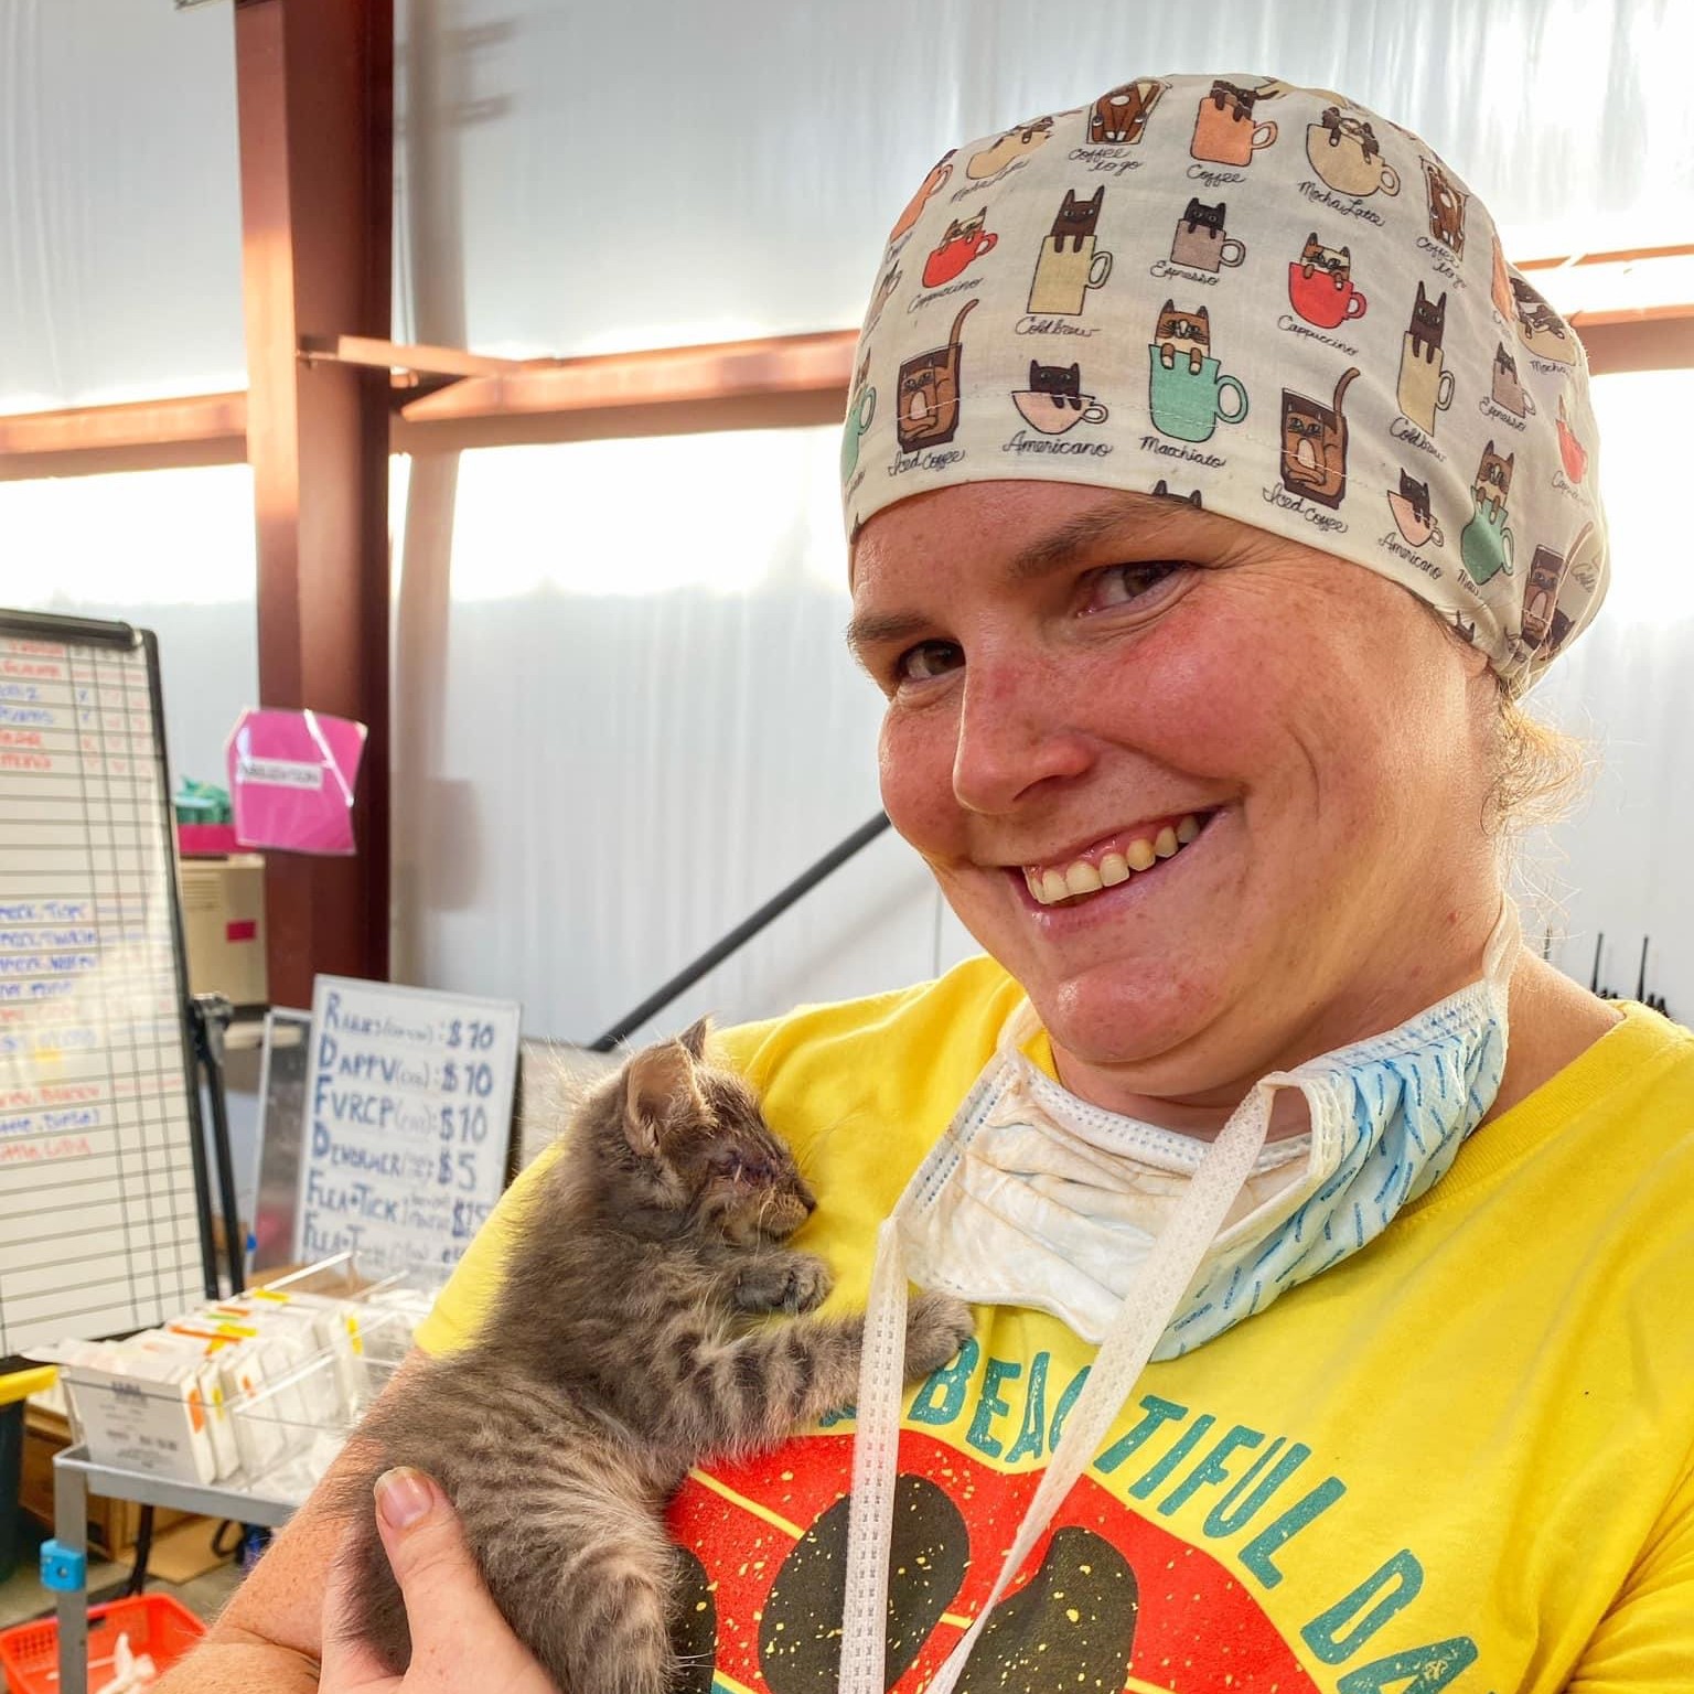
[[[462,263],[488,351],[854,325],[944,149],[1140,73],[1343,88],[1514,256],[1682,239],[1694,200],[1679,0],[401,0],[400,32],[401,246],[420,285]]]

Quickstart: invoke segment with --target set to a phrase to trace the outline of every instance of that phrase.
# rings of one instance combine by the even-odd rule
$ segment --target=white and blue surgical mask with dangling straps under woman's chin
[[[1035,1306],[1099,1345],[988,1603],[937,1672],[949,1694],[989,1611],[1149,1359],[1171,1359],[1357,1252],[1426,1193],[1506,1067],[1511,903],[1484,974],[1414,1018],[1264,1077],[1204,1147],[1067,1093],[1020,1042],[1027,1008],[877,1233],[854,1442],[842,1694],[881,1694],[906,1281]],[[1265,1145],[1277,1089],[1309,1135]]]

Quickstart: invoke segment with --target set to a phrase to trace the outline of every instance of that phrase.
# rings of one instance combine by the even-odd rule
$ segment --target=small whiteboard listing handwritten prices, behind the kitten
[[[320,976],[296,1257],[457,1264],[505,1186],[517,1052],[517,1001]]]

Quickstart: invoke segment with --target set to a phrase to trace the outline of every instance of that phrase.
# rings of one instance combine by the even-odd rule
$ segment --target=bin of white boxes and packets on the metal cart
[[[359,1274],[352,1255],[122,1342],[64,1342],[95,1464],[300,1501],[412,1347],[439,1279]]]

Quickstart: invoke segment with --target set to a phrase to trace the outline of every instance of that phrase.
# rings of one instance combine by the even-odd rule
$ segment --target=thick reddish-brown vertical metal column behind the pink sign
[[[388,339],[393,0],[237,0],[247,457],[266,706],[371,735],[352,859],[266,861],[271,999],[388,976],[388,373],[302,335]]]

